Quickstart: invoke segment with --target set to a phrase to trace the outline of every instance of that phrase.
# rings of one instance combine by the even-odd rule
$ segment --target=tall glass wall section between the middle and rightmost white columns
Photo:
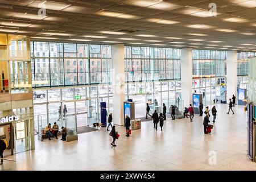
[[[226,103],[226,52],[193,49],[193,93],[203,104]]]

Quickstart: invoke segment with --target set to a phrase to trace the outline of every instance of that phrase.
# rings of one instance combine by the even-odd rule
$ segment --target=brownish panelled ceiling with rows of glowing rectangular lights
[[[46,16],[38,15],[42,3]],[[208,15],[210,3],[216,3],[217,16]],[[230,29],[234,32],[218,31]],[[32,40],[256,51],[255,29],[253,0],[0,1],[0,32],[30,35]]]

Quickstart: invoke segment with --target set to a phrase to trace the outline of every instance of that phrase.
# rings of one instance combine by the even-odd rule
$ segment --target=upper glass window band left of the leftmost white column
[[[31,43],[34,88],[110,83],[111,46]]]

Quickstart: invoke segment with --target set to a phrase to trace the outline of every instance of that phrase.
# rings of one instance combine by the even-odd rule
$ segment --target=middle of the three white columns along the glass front
[[[193,76],[193,60],[192,48],[181,49],[180,57],[181,69],[181,98],[184,101],[184,107],[192,104],[192,76]]]

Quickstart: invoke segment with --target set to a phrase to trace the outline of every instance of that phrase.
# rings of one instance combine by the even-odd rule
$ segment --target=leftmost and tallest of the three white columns
[[[123,44],[112,46],[113,122],[123,126],[125,102],[125,57]]]

